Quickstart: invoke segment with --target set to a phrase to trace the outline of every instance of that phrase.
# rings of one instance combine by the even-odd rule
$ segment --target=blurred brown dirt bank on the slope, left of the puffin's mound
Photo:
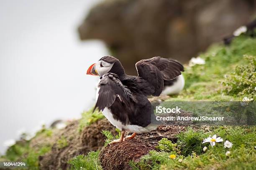
[[[58,138],[53,144],[51,151],[39,157],[40,170],[66,170],[69,168],[68,160],[76,155],[86,155],[89,151],[100,149],[104,145],[104,135],[102,130],[110,130],[115,133],[115,128],[108,120],[97,120],[82,130],[78,131],[79,121],[73,121],[58,134]],[[63,140],[66,143],[60,147],[59,141]]]

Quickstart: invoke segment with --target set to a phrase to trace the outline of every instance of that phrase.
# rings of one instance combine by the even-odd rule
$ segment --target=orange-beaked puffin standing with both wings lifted
[[[100,77],[93,111],[102,111],[108,121],[121,130],[120,139],[109,144],[156,129],[156,116],[148,96],[159,96],[164,81],[174,80],[184,71],[178,61],[162,57],[140,60],[135,66],[138,76],[127,75],[117,58],[104,56],[87,69],[87,75]],[[133,134],[124,137],[125,131]]]

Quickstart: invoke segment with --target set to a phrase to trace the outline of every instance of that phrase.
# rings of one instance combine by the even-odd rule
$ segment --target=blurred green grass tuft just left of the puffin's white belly
[[[90,125],[93,122],[96,122],[98,119],[102,119],[104,117],[102,112],[98,110],[92,112],[92,110],[93,107],[88,111],[82,112],[82,118],[79,120],[79,132],[81,132],[85,126]]]

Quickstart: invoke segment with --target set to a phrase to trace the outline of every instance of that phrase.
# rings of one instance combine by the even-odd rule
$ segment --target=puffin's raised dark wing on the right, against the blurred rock
[[[141,60],[136,63],[138,77],[142,77],[149,84],[153,96],[159,96],[163,91],[164,80],[172,80],[181,75],[184,67],[179,62],[161,58],[153,57],[148,60]]]

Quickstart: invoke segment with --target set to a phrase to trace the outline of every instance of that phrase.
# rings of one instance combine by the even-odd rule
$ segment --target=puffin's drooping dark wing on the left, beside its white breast
[[[102,76],[98,87],[98,98],[93,111],[98,107],[99,110],[104,110],[105,107],[110,107],[115,102],[116,97],[125,105],[130,105],[131,91],[125,87],[119,80],[118,75],[107,73]]]

